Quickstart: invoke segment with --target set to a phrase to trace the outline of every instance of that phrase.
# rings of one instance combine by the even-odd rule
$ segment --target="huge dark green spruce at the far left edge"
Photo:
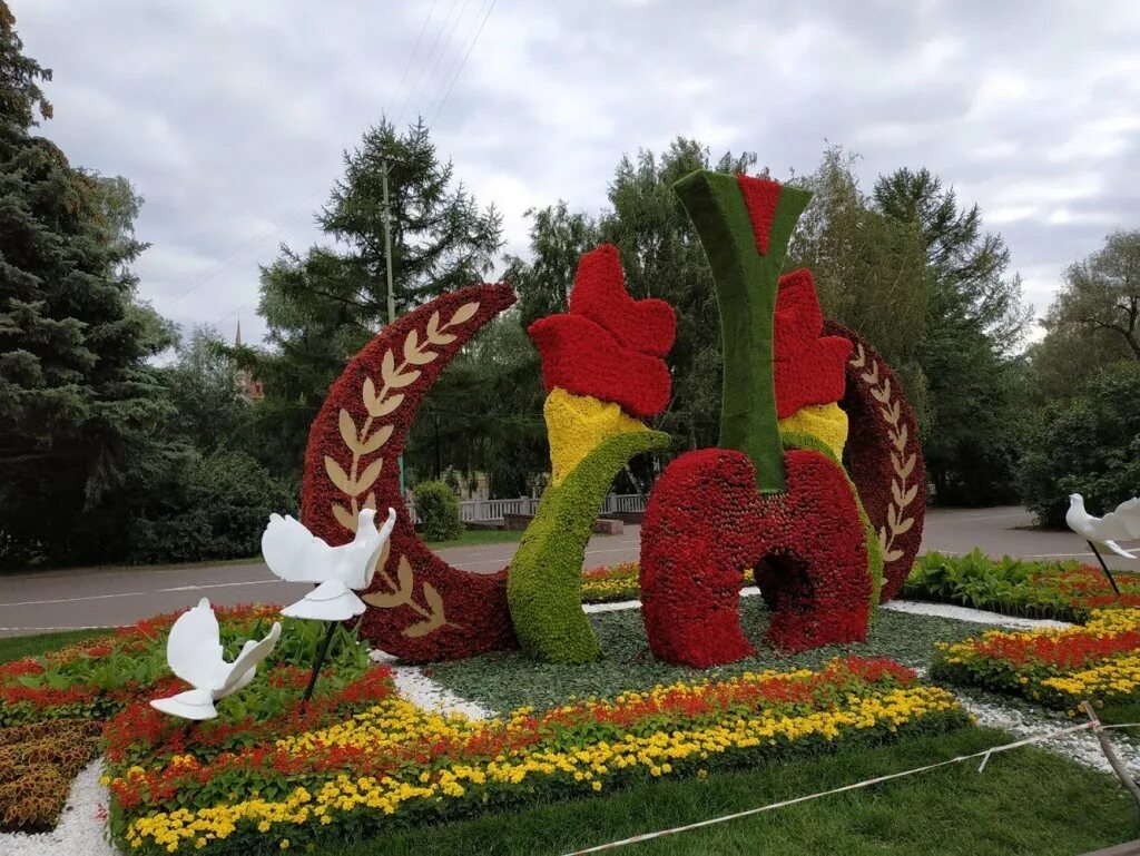
[[[33,133],[50,72],[14,25],[0,0],[0,525],[23,555],[97,559],[105,515],[168,460],[172,407],[147,359],[172,334],[135,300],[133,214],[108,215],[123,185]]]

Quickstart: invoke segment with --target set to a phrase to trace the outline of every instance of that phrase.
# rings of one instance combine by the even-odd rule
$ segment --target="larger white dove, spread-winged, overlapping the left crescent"
[[[261,536],[261,554],[269,570],[288,582],[317,582],[296,603],[282,610],[290,618],[347,621],[363,615],[364,601],[356,590],[368,588],[376,568],[388,559],[396,509],[388,509],[384,527],[376,529],[376,512],[363,508],[349,544],[329,547],[293,517],[274,514]]]

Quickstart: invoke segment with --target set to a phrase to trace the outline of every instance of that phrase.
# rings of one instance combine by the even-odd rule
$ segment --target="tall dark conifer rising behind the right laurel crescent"
[[[1005,276],[1009,250],[982,230],[977,205],[927,170],[880,177],[873,194],[886,217],[912,225],[933,275],[919,362],[929,386],[927,472],[943,503],[988,505],[1016,498],[1013,413],[1021,390],[1013,352],[1029,323],[1020,280]]]

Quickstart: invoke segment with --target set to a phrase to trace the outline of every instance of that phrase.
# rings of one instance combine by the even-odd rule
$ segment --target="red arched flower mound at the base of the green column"
[[[787,492],[759,495],[736,451],[691,451],[666,467],[642,525],[642,615],[654,657],[706,668],[751,654],[739,604],[741,571],[754,566],[766,569],[757,581],[774,609],[774,645],[865,638],[873,580],[847,476],[806,449],[787,451],[784,468]]]

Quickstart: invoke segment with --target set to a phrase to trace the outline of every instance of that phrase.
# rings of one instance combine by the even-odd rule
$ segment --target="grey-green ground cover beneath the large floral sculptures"
[[[744,633],[763,639],[771,613],[760,597],[741,600]],[[866,642],[826,645],[798,654],[776,651],[763,642],[757,653],[728,666],[697,671],[658,662],[649,651],[638,610],[601,612],[591,622],[602,646],[602,658],[584,666],[543,663],[519,653],[492,653],[467,660],[437,663],[424,670],[458,695],[494,710],[524,704],[537,708],[560,704],[568,696],[612,695],[625,690],[648,688],[679,679],[716,678],[743,671],[820,666],[848,653],[890,657],[906,666],[929,666],[935,642],[952,642],[976,635],[978,625],[931,615],[879,610]]]

